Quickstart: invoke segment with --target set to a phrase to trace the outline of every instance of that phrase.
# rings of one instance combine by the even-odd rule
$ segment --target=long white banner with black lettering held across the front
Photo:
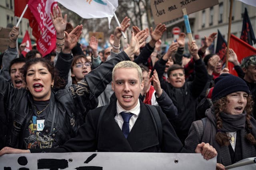
[[[216,157],[192,153],[70,152],[5,154],[1,170],[215,170]]]

